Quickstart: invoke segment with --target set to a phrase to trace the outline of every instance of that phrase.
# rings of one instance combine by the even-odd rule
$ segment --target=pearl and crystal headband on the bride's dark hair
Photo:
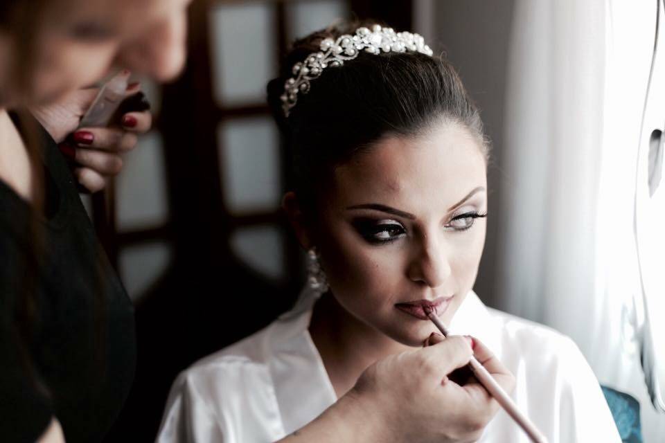
[[[372,26],[372,30],[362,27],[355,30],[355,35],[342,35],[337,40],[323,39],[321,51],[308,55],[304,62],[294,64],[293,77],[286,80],[284,93],[281,95],[282,109],[285,116],[296,105],[298,93],[310,91],[310,81],[318,78],[328,66],[342,66],[345,60],[353,60],[361,51],[371,54],[403,53],[414,51],[432,55],[432,49],[425,44],[419,34],[396,33],[393,28]]]

